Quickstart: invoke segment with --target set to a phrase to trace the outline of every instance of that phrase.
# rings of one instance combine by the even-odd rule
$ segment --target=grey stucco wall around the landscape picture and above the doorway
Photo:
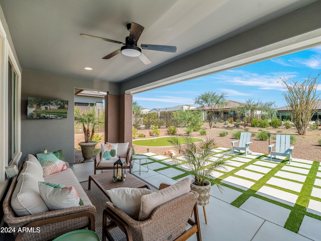
[[[74,89],[109,91],[109,83],[23,70],[21,94],[22,158],[62,149],[65,160],[74,162]],[[27,97],[68,100],[67,119],[27,120]]]

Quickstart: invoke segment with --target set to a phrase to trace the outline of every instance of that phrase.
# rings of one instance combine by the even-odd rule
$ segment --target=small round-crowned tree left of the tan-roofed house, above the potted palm
[[[222,109],[226,105],[226,93],[216,94],[216,92],[208,91],[194,99],[194,103],[207,112],[209,117],[210,128],[212,128],[213,118],[215,117],[215,110]]]

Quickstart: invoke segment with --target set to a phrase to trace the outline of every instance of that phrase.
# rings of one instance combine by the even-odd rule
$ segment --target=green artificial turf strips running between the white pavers
[[[227,150],[227,151],[230,151],[230,150]],[[224,152],[225,151],[221,151],[221,153],[224,153]],[[235,159],[237,156],[242,157],[242,158],[246,158],[244,155],[238,154],[238,155],[230,156],[229,158],[227,158],[227,160],[233,159],[233,161],[237,161]],[[306,176],[304,182],[290,180],[290,179],[283,178],[283,177],[280,177],[280,176],[275,176],[276,172],[280,171],[281,168],[288,163],[288,158],[286,158],[285,160],[280,160],[279,163],[276,162],[277,165],[275,167],[270,167],[271,170],[269,172],[267,172],[267,173],[264,173],[264,175],[258,180],[249,179],[247,177],[243,177],[243,176],[239,176],[239,175],[235,174],[237,171],[242,170],[242,169],[246,168],[249,165],[260,166],[260,164],[256,164],[255,163],[258,160],[269,162],[267,160],[263,160],[263,158],[265,158],[266,156],[267,156],[266,154],[262,155],[262,156],[258,156],[256,159],[249,160],[248,162],[240,165],[239,167],[235,167],[231,171],[218,170],[218,172],[223,173],[223,175],[221,175],[220,177],[216,178],[215,180],[212,179],[211,182],[212,182],[212,184],[219,183],[220,185],[223,185],[223,186],[232,188],[234,190],[237,190],[239,192],[242,192],[241,195],[239,195],[234,201],[231,202],[231,205],[234,205],[236,207],[240,207],[246,200],[248,200],[248,198],[253,196],[253,197],[256,197],[256,198],[259,198],[259,199],[262,199],[262,200],[265,200],[265,201],[268,201],[268,202],[271,202],[273,204],[276,204],[276,205],[279,205],[279,206],[282,206],[284,208],[289,209],[290,210],[290,214],[289,214],[289,216],[288,216],[288,218],[287,218],[287,220],[286,220],[286,222],[284,224],[284,228],[287,228],[287,229],[289,229],[289,230],[291,230],[293,232],[298,232],[304,215],[307,215],[307,216],[310,216],[310,217],[313,217],[313,218],[321,220],[321,216],[319,216],[319,215],[317,215],[315,213],[311,213],[311,212],[307,211],[307,206],[308,206],[308,203],[309,203],[310,199],[313,199],[313,200],[316,200],[316,201],[321,201],[321,198],[311,196],[312,188],[313,187],[318,187],[319,188],[319,186],[314,184],[314,181],[315,181],[315,179],[321,179],[319,176],[317,176],[317,171],[318,171],[318,168],[320,166],[320,163],[316,162],[316,161],[313,161],[313,163],[311,165],[311,168],[309,168],[308,174],[299,173],[300,175]],[[154,162],[161,162],[161,161],[154,160],[154,159],[152,159],[152,160]],[[298,160],[298,162],[299,162],[299,160]],[[162,164],[164,164],[164,162],[162,162]],[[188,170],[181,169],[177,165],[170,165],[169,164],[167,167],[164,167],[164,168],[161,168],[161,169],[164,170],[164,169],[171,168],[171,167],[174,167],[176,169],[180,169],[180,170],[185,172],[185,174],[181,174],[179,176],[173,177],[173,179],[175,179],[175,180],[190,174]],[[300,167],[300,168],[307,169],[307,168],[304,168],[304,167]],[[155,171],[157,171],[157,170],[155,170]],[[256,173],[260,173],[260,172],[254,171],[254,170],[251,170],[251,171],[252,172],[256,172]],[[286,171],[286,172],[298,174],[298,173],[292,172],[292,171]],[[263,173],[260,173],[260,174],[263,174]],[[238,188],[238,187],[236,187],[234,185],[227,184],[226,182],[221,182],[221,180],[225,179],[228,176],[235,176],[235,177],[242,178],[242,179],[245,179],[245,180],[249,180],[249,181],[252,181],[252,182],[255,182],[255,183],[250,188],[248,188],[246,190],[243,190],[243,189],[240,189],[240,188]],[[300,183],[300,184],[302,184],[302,188],[301,188],[301,190],[299,192],[297,192],[297,191],[289,190],[289,189],[286,189],[286,188],[283,188],[283,187],[279,187],[279,186],[275,186],[275,185],[272,185],[272,184],[268,184],[267,181],[271,177],[277,177],[277,178],[280,178],[280,179],[284,179],[284,180]],[[279,190],[282,190],[282,191],[293,193],[295,195],[298,195],[298,198],[297,198],[295,204],[293,206],[290,206],[290,205],[285,204],[283,202],[279,202],[277,200],[274,200],[274,199],[271,199],[271,198],[268,198],[268,197],[265,197],[265,196],[261,196],[259,193],[257,193],[257,191],[262,186],[269,186],[269,187],[272,187],[272,188],[275,188],[275,189],[279,189]]]

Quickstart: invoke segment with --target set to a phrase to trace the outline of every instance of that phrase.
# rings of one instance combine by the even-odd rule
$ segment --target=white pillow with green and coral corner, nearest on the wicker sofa
[[[83,205],[76,189],[72,186],[54,184],[50,182],[38,182],[42,199],[49,210],[57,210]]]

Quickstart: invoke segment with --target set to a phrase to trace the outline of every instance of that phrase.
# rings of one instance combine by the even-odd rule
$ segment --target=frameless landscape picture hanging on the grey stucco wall
[[[28,97],[27,119],[65,119],[68,100]]]

